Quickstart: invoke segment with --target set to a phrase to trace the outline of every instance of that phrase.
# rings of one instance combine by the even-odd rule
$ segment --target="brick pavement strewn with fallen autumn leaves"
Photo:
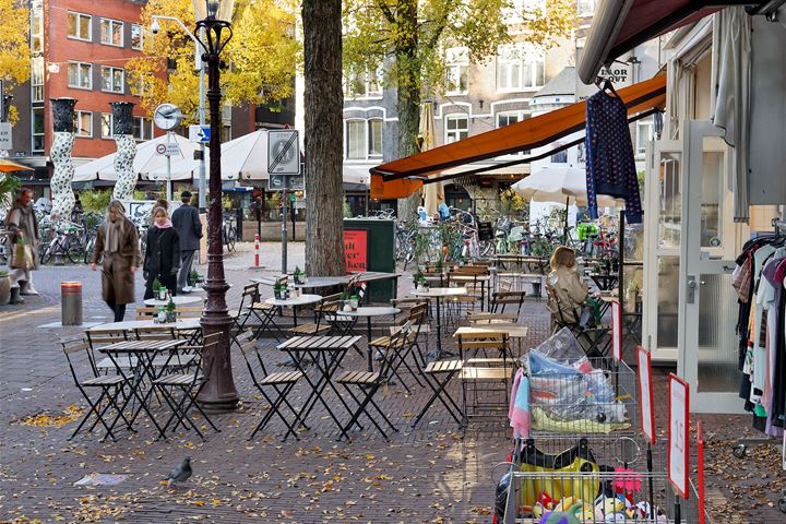
[[[274,246],[263,249],[262,263],[267,267],[279,263]],[[243,250],[226,264],[227,277],[235,285],[230,305],[237,303],[238,288],[250,274],[250,253],[247,247]],[[302,245],[294,246],[289,259],[293,267],[302,265]],[[69,443],[66,439],[73,424],[59,429],[21,425],[26,416],[83,404],[55,344],[58,337],[80,330],[36,327],[59,320],[61,279],[83,279],[85,321],[109,320],[109,310],[100,301],[98,275],[83,267],[45,267],[36,274],[40,297],[31,298],[20,309],[0,307],[0,425],[4,428],[0,439],[0,522],[490,521],[491,467],[504,458],[509,448],[504,421],[475,424],[462,434],[449,417],[433,409],[422,427],[405,429],[410,414],[425,402],[420,391],[413,395],[394,386],[382,391],[383,408],[402,429],[390,443],[372,431],[357,432],[352,443],[336,442],[332,421],[321,410],[311,417],[311,431],[299,442],[276,440],[283,433],[277,420],[265,434],[247,442],[264,405],[237,358],[234,369],[242,405],[236,413],[215,417],[223,431],[209,433],[205,443],[182,431],[167,442],[155,441],[146,420],[139,433],[120,433],[117,443],[99,443],[90,434]],[[406,290],[408,279],[402,279],[401,286]],[[543,302],[527,302],[522,323],[531,326],[524,347],[540,342],[548,329]],[[277,360],[273,342],[265,344],[271,361]],[[347,369],[362,365],[356,355],[345,360]],[[664,428],[666,417],[665,374],[656,371],[658,428]],[[296,402],[302,394],[296,390]],[[747,418],[701,418],[711,437],[708,484],[715,522],[783,522],[783,515],[769,505],[777,501],[776,489],[785,486],[783,473],[773,467],[775,454],[762,449],[750,453],[747,461],[730,457],[730,443],[746,432]],[[663,445],[665,430],[659,433]],[[194,477],[181,488],[163,486],[163,475],[186,454],[194,457]],[[129,477],[112,488],[73,486],[93,472]],[[762,472],[766,472],[763,480],[759,477]]]

